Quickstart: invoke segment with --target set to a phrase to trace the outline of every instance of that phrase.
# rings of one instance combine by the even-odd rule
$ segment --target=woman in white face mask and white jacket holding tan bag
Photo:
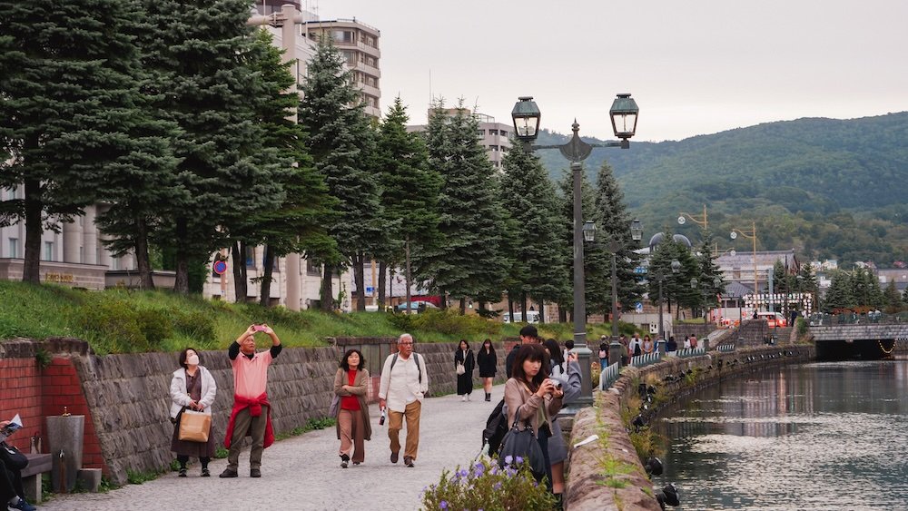
[[[180,477],[186,477],[186,462],[190,457],[198,457],[202,463],[202,477],[211,477],[208,462],[214,456],[214,435],[209,432],[207,442],[181,440],[180,419],[183,409],[212,414],[211,406],[218,387],[214,383],[211,371],[200,365],[199,352],[192,348],[180,352],[180,369],[173,371],[171,379],[171,421],[173,422],[173,439],[171,450],[176,453],[180,462]]]

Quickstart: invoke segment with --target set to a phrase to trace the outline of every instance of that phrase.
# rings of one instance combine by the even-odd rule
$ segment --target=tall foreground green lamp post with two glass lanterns
[[[630,138],[637,132],[637,108],[630,94],[618,94],[608,113],[612,121],[612,130],[617,141],[590,144],[580,140],[577,134],[580,125],[577,120],[571,125],[574,136],[562,145],[533,145],[539,133],[541,112],[533,101],[532,96],[521,96],[511,111],[514,121],[514,133],[517,139],[524,143],[524,149],[529,151],[539,149],[558,149],[561,155],[570,162],[570,170],[574,184],[574,350],[580,362],[581,388],[577,406],[585,407],[593,403],[593,388],[591,386],[589,359],[592,351],[587,348],[587,303],[584,296],[584,271],[583,271],[583,208],[581,201],[581,176],[583,166],[580,162],[587,159],[594,147],[630,147]],[[592,223],[592,222],[590,222]],[[594,226],[595,227],[595,226]],[[595,232],[595,231],[594,231]]]

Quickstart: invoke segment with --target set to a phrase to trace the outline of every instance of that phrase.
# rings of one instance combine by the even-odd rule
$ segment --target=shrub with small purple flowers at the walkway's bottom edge
[[[553,509],[555,496],[536,482],[526,463],[501,469],[487,458],[469,468],[457,467],[453,474],[443,471],[437,485],[423,489],[422,505],[427,511]]]

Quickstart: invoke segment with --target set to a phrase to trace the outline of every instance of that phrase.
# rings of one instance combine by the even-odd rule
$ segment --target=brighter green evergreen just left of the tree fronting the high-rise
[[[324,178],[312,166],[302,142],[305,133],[301,125],[291,118],[300,103],[299,94],[292,90],[295,79],[291,68],[295,63],[281,63],[281,50],[271,44],[271,39],[268,31],[258,31],[250,64],[261,74],[264,84],[263,93],[255,98],[255,113],[263,130],[262,145],[274,148],[287,165],[286,172],[281,173],[285,198],[278,208],[259,212],[246,225],[240,224],[231,232],[237,240],[238,253],[244,252],[238,241],[265,244],[259,294],[262,305],[268,305],[271,296],[275,258],[290,253],[336,257],[337,251],[337,243],[325,227],[332,219],[337,201],[328,193]],[[234,267],[234,272],[243,270],[242,275],[234,278],[238,286],[242,282],[237,297],[245,297],[245,265]]]

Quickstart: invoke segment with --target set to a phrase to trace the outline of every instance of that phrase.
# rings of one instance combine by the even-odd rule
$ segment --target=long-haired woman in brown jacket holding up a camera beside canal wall
[[[521,346],[514,358],[511,378],[505,384],[505,405],[508,407],[508,427],[513,427],[516,421],[519,430],[533,429],[545,458],[546,485],[548,491],[552,491],[548,438],[554,431],[552,418],[561,409],[564,392],[548,378],[549,371],[545,348],[539,344]]]

